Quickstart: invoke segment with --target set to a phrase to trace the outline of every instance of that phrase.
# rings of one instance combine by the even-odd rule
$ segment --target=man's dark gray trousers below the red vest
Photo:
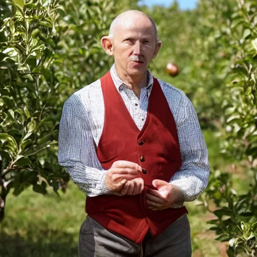
[[[79,232],[79,257],[190,257],[191,238],[187,215],[171,224],[155,239],[136,244],[87,216]]]

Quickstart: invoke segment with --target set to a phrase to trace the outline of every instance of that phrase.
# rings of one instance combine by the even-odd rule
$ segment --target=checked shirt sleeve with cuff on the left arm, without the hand
[[[88,196],[107,194],[110,193],[104,183],[107,171],[97,158],[84,108],[75,94],[64,104],[59,129],[59,164]]]

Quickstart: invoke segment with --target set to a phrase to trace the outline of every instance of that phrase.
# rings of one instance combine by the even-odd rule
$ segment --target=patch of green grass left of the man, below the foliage
[[[35,194],[31,188],[18,197],[9,195],[0,225],[0,256],[77,256],[84,209],[84,193],[73,183],[60,196]]]

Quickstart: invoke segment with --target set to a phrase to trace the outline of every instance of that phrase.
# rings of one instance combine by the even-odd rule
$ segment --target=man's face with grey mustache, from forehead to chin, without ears
[[[116,69],[129,76],[145,74],[157,49],[154,27],[141,15],[122,20],[112,43]]]

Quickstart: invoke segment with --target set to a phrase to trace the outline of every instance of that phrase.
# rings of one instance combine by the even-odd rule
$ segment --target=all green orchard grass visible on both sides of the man
[[[213,133],[204,132],[210,162],[228,165],[218,153],[218,142]],[[194,202],[186,204],[189,210],[193,256],[226,256],[225,244],[216,241],[206,220],[213,216]],[[80,225],[86,217],[85,195],[72,182],[67,192],[46,196],[32,188],[18,197],[9,194],[6,218],[0,224],[0,257],[73,257],[78,256],[77,241]]]

